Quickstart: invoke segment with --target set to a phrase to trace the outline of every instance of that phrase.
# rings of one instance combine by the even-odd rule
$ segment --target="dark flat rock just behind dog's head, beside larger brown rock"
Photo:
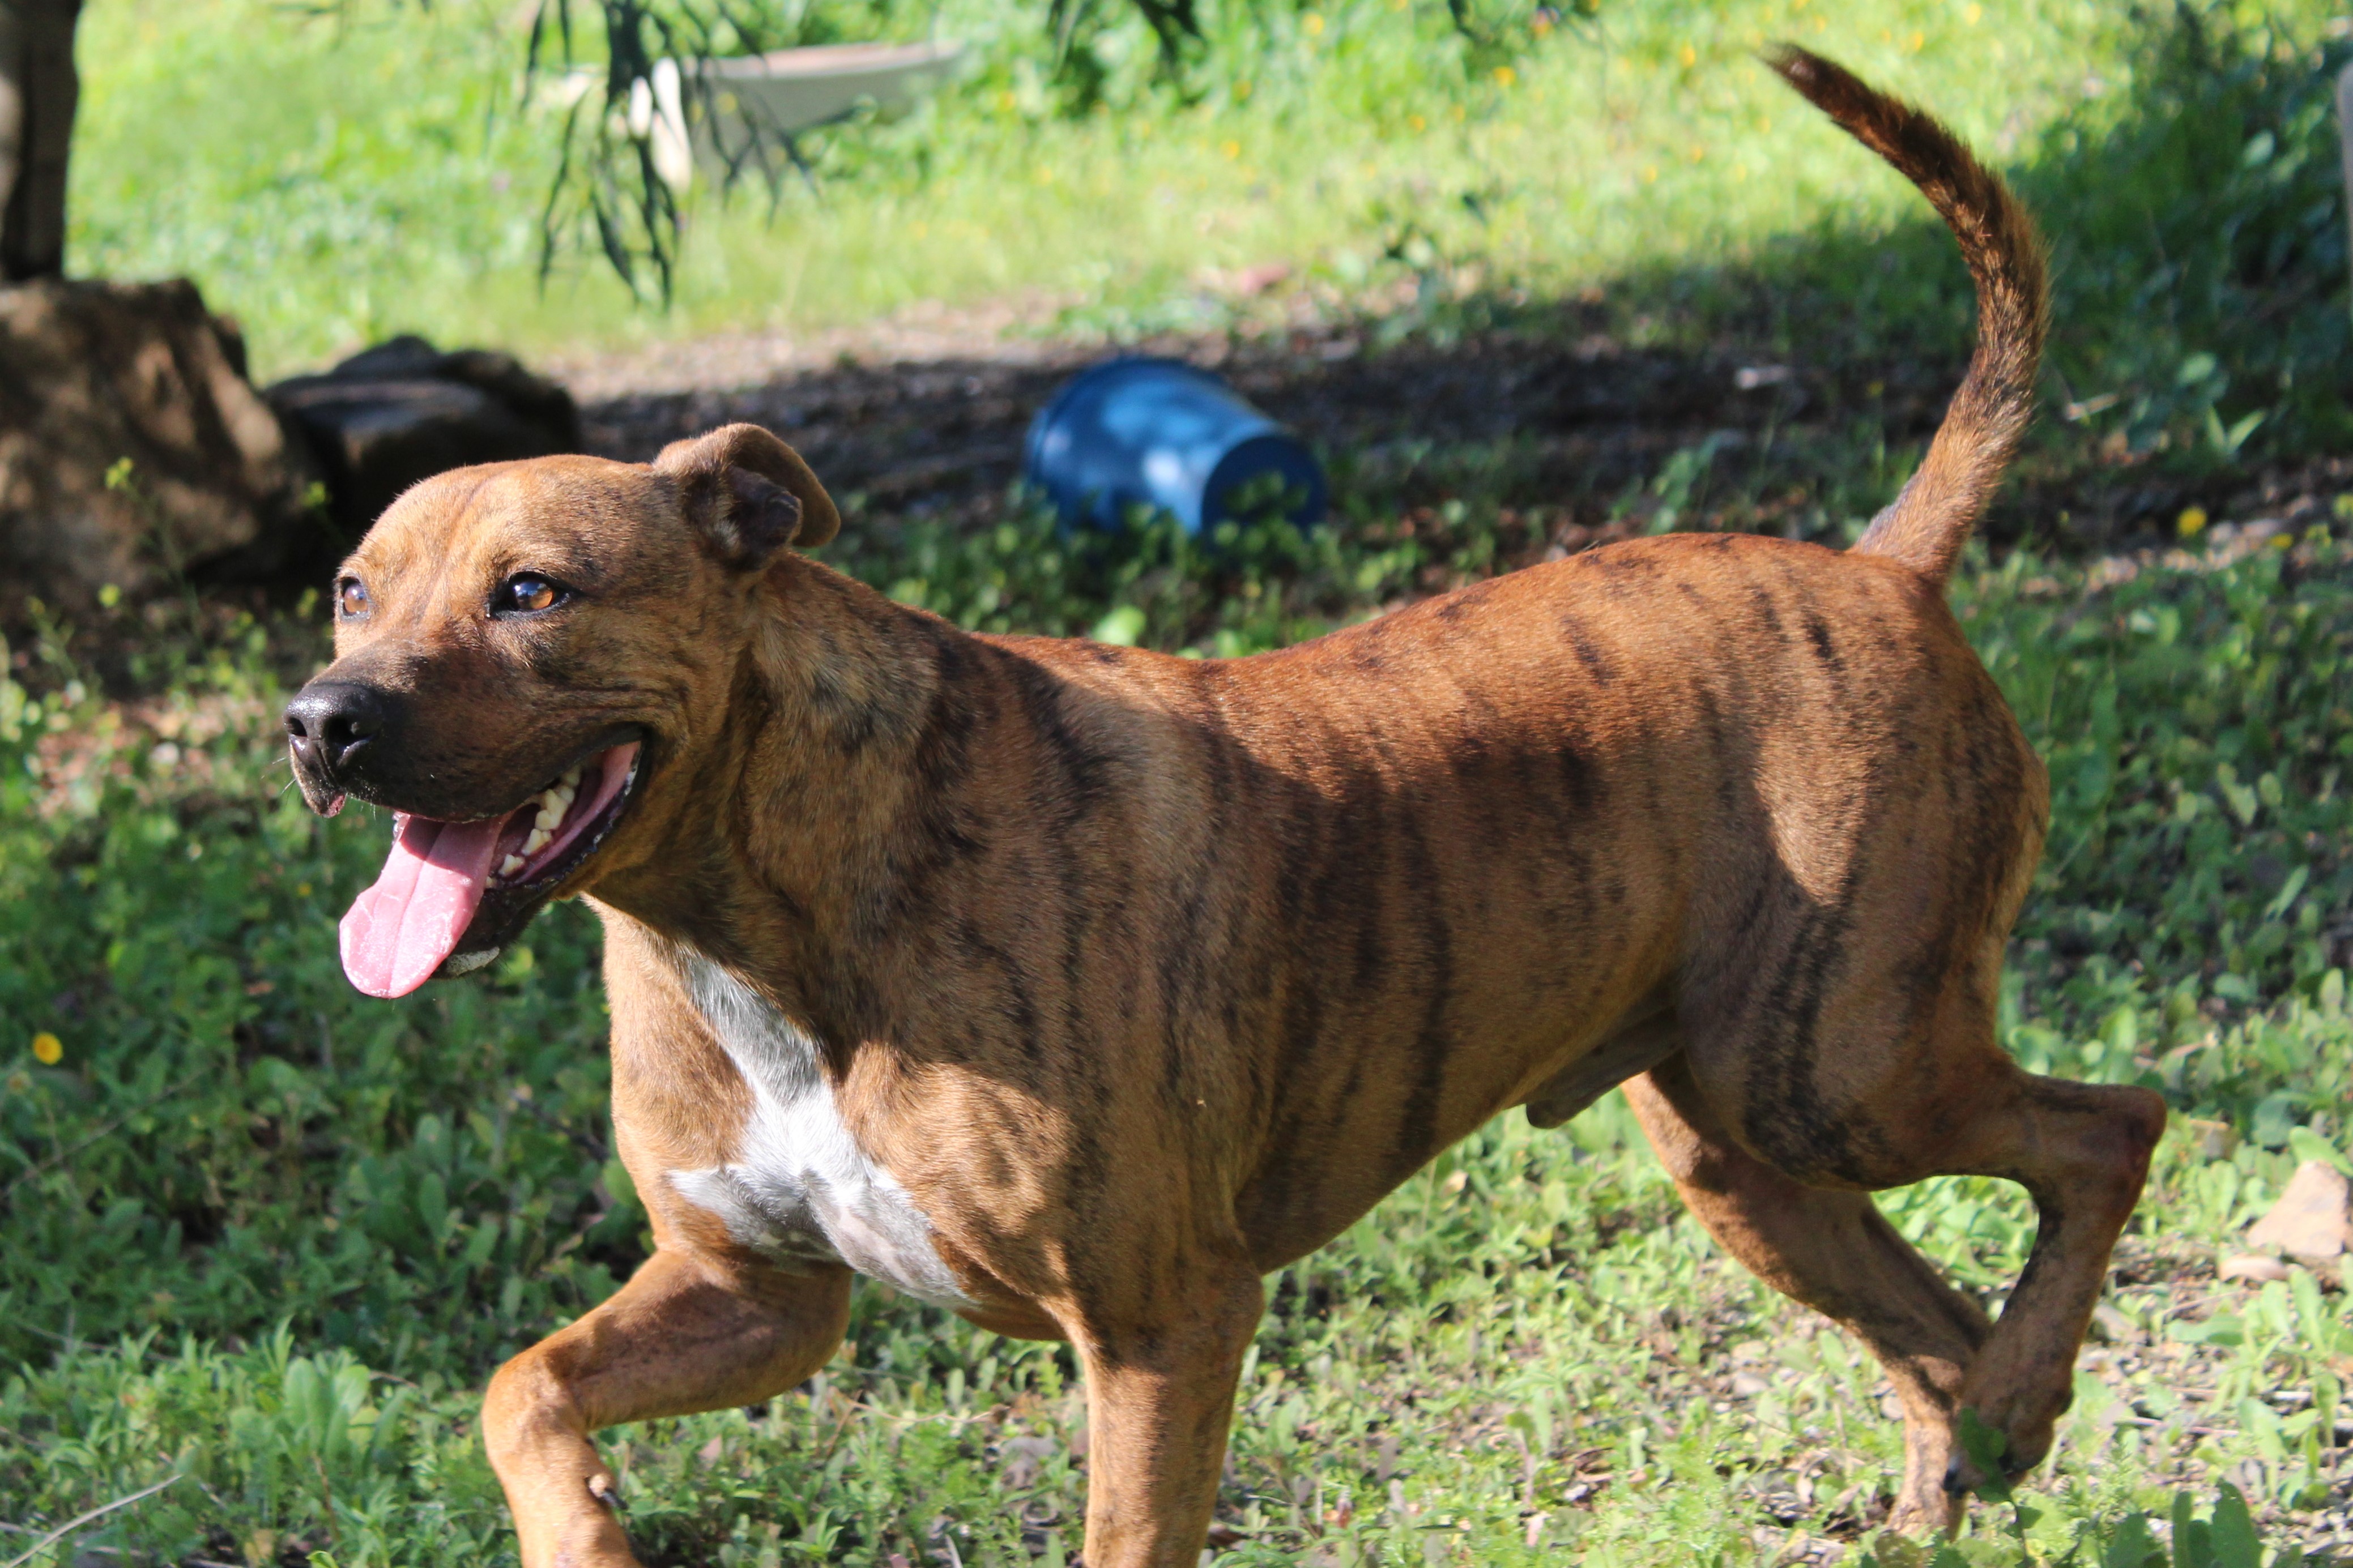
[[[355,541],[409,484],[445,468],[579,451],[572,395],[487,348],[442,353],[398,336],[322,376],[268,388],[271,407],[327,482],[334,527]]]

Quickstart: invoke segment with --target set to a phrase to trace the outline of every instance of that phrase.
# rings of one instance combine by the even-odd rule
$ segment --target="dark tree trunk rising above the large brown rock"
[[[0,0],[0,282],[66,270],[73,24],[82,0]]]

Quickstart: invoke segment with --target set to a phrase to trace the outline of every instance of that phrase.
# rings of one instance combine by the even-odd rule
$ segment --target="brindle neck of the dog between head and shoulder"
[[[974,642],[800,555],[760,590],[725,710],[678,752],[649,851],[602,905],[767,992],[819,1037],[875,1027],[875,954],[920,898]],[[932,818],[932,820],[927,820]],[[953,827],[948,827],[953,832]]]

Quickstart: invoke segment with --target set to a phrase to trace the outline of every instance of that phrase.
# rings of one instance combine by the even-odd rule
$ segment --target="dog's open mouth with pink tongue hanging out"
[[[628,741],[506,816],[440,823],[395,811],[393,853],[344,914],[344,973],[369,997],[407,997],[435,973],[480,969],[499,940],[466,943],[485,896],[520,924],[541,891],[595,853],[635,783],[638,743]],[[468,952],[452,957],[461,945]]]

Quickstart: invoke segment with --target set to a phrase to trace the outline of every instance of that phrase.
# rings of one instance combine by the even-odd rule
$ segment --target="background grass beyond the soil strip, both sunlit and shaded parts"
[[[814,193],[701,190],[661,313],[581,254],[539,292],[555,129],[515,108],[513,7],[99,0],[71,261],[198,277],[268,371],[395,329],[541,353],[993,299],[1113,336],[1247,329],[1198,280],[1271,261],[1285,310],[1412,301],[1407,327],[1447,329],[1593,292],[1638,341],[1951,362],[1951,242],[1751,59],[1795,35],[1948,115],[2042,212],[2052,402],[2113,400],[2047,440],[2217,463],[2344,435],[2327,14],[1661,0],[1499,56],[1428,0],[1339,0],[1228,40],[1198,101],[1136,87],[1113,33],[1118,110],[1071,115],[1026,14],[948,5],[976,71],[901,125],[814,136]]]

